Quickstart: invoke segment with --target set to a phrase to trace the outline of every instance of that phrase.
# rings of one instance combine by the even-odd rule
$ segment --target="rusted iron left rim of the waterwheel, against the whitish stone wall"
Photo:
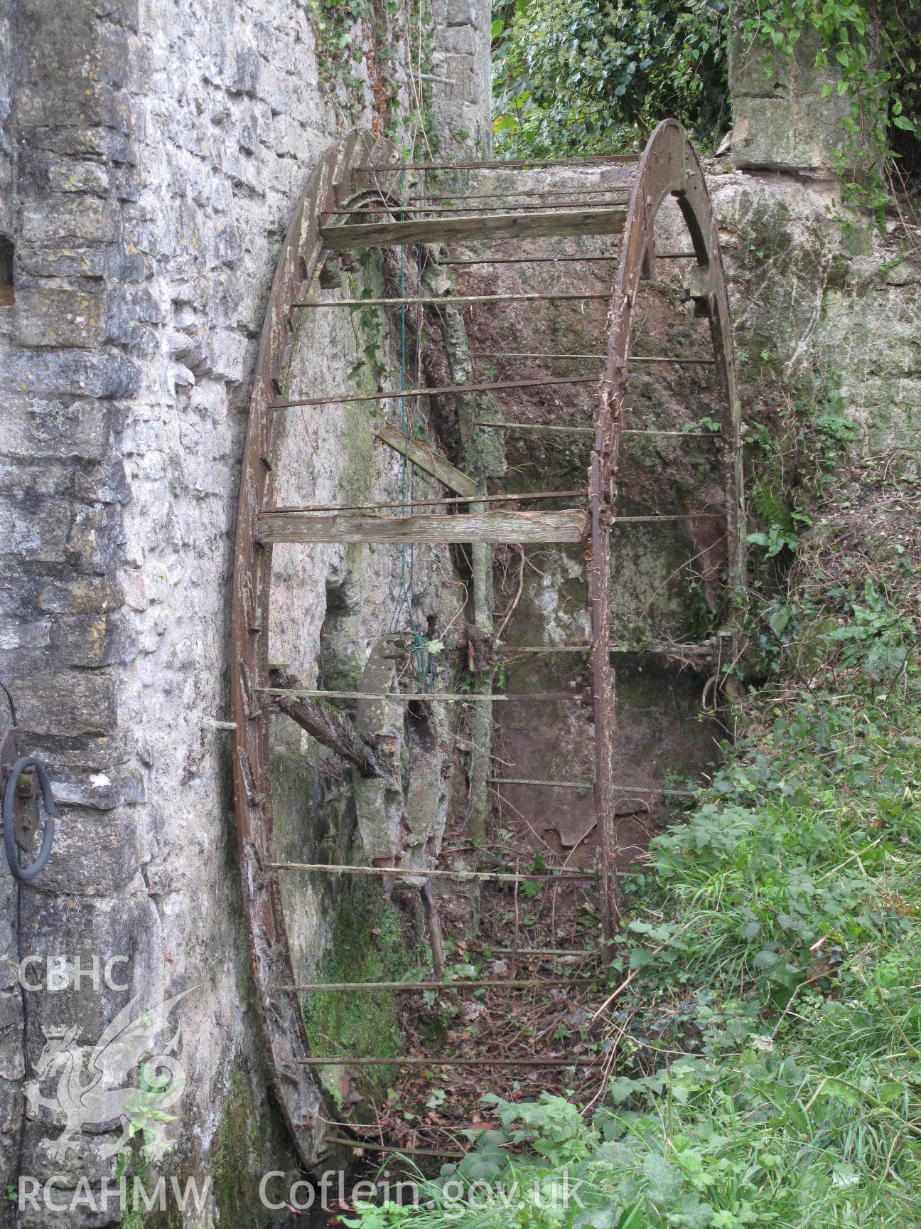
[[[249,408],[237,508],[231,600],[231,715],[233,800],[255,995],[266,1054],[285,1121],[307,1166],[327,1145],[318,1111],[323,1091],[311,1056],[297,998],[281,987],[295,982],[279,875],[273,860],[269,779],[269,708],[260,688],[269,685],[269,599],[271,546],[255,532],[259,512],[273,504],[274,471],[285,429],[284,415],[268,403],[284,393],[295,328],[290,305],[301,296],[324,257],[322,226],[344,206],[386,198],[362,163],[399,161],[397,147],[370,133],[350,133],[329,150],[311,176],[285,237],[263,324]],[[389,204],[389,203],[388,203]],[[334,1115],[330,1115],[334,1117]]]

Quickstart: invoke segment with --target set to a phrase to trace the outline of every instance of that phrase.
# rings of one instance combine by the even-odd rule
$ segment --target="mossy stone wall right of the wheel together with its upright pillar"
[[[921,441],[917,234],[890,219],[841,225],[836,168],[852,152],[837,74],[815,65],[815,36],[792,55],[742,37],[729,54],[733,129],[711,192],[753,399],[806,396],[831,381],[869,455],[916,465]]]

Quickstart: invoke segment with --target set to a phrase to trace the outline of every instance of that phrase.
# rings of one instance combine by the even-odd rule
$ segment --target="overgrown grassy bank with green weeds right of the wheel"
[[[790,410],[813,524],[755,553],[734,745],[626,878],[597,1101],[486,1097],[430,1206],[352,1225],[921,1227],[917,479],[845,465],[835,397]]]

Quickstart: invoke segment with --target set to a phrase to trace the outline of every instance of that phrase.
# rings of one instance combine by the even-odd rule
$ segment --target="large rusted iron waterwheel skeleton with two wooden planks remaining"
[[[495,183],[470,190],[479,171],[501,172],[499,190]],[[535,249],[538,240],[560,240],[564,249],[548,256]],[[587,251],[585,243],[596,247]],[[580,286],[580,262],[587,261],[609,270],[607,284]],[[521,280],[502,289],[500,273],[539,273],[542,262],[571,277],[572,289],[558,284],[548,293]],[[666,280],[679,277],[685,326],[689,311],[709,326],[704,350],[695,342],[673,353],[642,353],[648,345],[637,305],[661,270]],[[475,278],[478,293],[457,290],[458,272]],[[559,350],[543,354],[501,344],[503,310],[537,312],[548,302],[560,311],[596,304],[607,355],[566,344],[565,337]],[[492,321],[491,349],[470,345],[468,308]],[[336,356],[349,329],[361,358],[351,370]],[[387,361],[394,358],[395,377]],[[554,374],[560,363],[564,374]],[[673,402],[682,399],[688,372],[706,371],[710,412],[702,422],[691,415],[662,425],[631,414],[631,375],[655,383],[664,371],[672,372]],[[576,409],[565,422],[534,414],[516,420],[507,403],[501,413],[484,412],[484,404],[496,403],[484,398],[535,388],[580,388],[593,397],[594,409],[582,417]],[[432,441],[416,410],[435,399],[451,408],[443,439]],[[690,393],[684,399],[694,402]],[[508,482],[490,481],[484,456],[496,440],[554,431],[581,433],[588,445],[587,481],[578,489],[542,487],[529,477],[524,489],[512,490]],[[523,879],[578,881],[596,902],[604,956],[621,909],[619,801],[639,793],[668,804],[686,793],[624,778],[612,660],[629,653],[634,664],[664,655],[702,665],[702,696],[712,701],[731,662],[725,627],[742,584],[738,439],[718,234],[700,162],[675,120],[663,122],[641,155],[559,163],[408,163],[387,140],[352,133],[313,172],[284,243],[262,334],[236,528],[231,648],[235,804],[255,992],[278,1100],[308,1168],[341,1142],[343,1084],[330,1096],[319,1068],[479,1064],[489,1073],[499,1066],[495,1056],[469,1047],[379,1059],[313,1053],[302,997],[321,983],[305,981],[303,968],[316,968],[321,956],[332,901],[324,885],[366,876],[388,890],[418,891],[433,966],[413,982],[419,993],[442,976],[432,892],[442,880],[500,887]],[[635,500],[621,481],[621,452],[630,441],[657,440],[698,450],[693,472],[704,476],[701,498],[670,511],[624,512]],[[354,469],[343,469],[343,457],[356,450],[365,467],[359,471],[367,474],[377,465],[379,482],[343,478]],[[709,611],[704,639],[637,642],[632,628],[626,634],[619,606],[613,626],[616,543],[642,527],[667,538],[683,533],[682,541],[696,547],[691,558],[702,560]],[[492,618],[492,553],[502,543],[521,551],[522,568],[524,549],[538,546],[567,551],[583,570],[586,634],[526,648],[585,656],[585,686],[546,694],[532,688],[517,697],[495,687],[503,628]],[[425,568],[414,551],[429,552]],[[459,616],[465,629],[463,670],[440,660],[449,616],[452,622]],[[332,656],[324,649],[330,639],[339,649]],[[570,705],[581,714],[587,760],[580,771],[588,779],[497,767],[495,712],[528,714],[535,704]],[[467,714],[463,721],[458,713]],[[515,723],[508,728],[513,732]],[[309,746],[323,748],[322,769],[345,800],[339,814],[348,812],[350,842],[341,832],[312,831],[309,822],[293,834],[279,832],[279,806],[318,788],[316,771],[305,775],[297,764],[302,731]],[[464,857],[442,848],[458,788],[474,837]],[[476,849],[484,815],[503,790],[516,789],[526,791],[519,801],[542,790],[575,791],[591,812],[578,837],[587,858],[577,869],[566,855],[546,858],[539,873],[530,868],[524,875],[502,865],[483,869]],[[306,912],[303,892],[313,893]],[[548,984],[560,981],[548,975]],[[490,984],[459,980],[452,993],[463,997]],[[339,988],[362,989],[349,982]],[[559,1068],[575,1061],[538,1053],[512,1056],[505,1066]]]

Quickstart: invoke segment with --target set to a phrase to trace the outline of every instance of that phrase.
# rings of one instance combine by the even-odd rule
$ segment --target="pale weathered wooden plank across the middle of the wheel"
[[[316,516],[263,512],[262,542],[581,542],[586,512],[458,512],[454,516]]]

